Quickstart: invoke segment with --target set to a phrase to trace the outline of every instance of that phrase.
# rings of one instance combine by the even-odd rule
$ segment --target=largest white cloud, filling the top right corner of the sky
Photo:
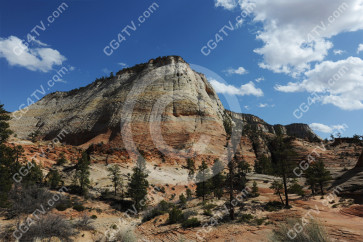
[[[263,24],[259,66],[294,77],[324,60],[333,47],[329,38],[363,29],[363,0],[240,0],[240,6]]]

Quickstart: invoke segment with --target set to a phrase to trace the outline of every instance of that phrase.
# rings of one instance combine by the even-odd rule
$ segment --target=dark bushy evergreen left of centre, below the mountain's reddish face
[[[129,183],[128,194],[133,200],[137,210],[144,207],[141,201],[146,198],[149,182],[146,173],[145,160],[139,156],[136,166],[133,168],[133,174]]]

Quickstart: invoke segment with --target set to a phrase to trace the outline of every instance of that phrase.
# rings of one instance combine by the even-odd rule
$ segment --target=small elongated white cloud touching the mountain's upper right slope
[[[252,95],[256,97],[263,96],[263,91],[260,88],[256,88],[253,82],[241,85],[239,88],[218,82],[217,80],[214,79],[212,79],[210,83],[212,84],[213,88],[216,90],[217,93],[228,94],[228,95],[239,95],[239,96],[246,96],[246,95]]]

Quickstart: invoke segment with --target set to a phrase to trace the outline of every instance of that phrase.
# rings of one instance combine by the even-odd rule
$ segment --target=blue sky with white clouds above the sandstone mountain
[[[238,110],[226,102],[234,95],[242,112],[271,124],[311,124],[322,137],[363,134],[362,2],[1,0],[0,102],[15,111],[124,66],[179,55],[215,73],[206,74],[227,108]],[[120,46],[105,54],[119,34]],[[16,55],[15,46],[25,49]]]

